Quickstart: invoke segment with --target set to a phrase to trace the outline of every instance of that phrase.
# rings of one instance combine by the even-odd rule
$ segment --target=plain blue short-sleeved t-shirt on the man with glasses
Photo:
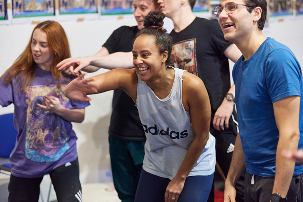
[[[267,38],[247,61],[242,57],[233,68],[235,103],[246,170],[263,177],[275,176],[279,131],[273,103],[303,94],[302,72],[290,49]],[[300,100],[298,148],[303,148],[303,100]],[[295,166],[294,176],[303,173]]]

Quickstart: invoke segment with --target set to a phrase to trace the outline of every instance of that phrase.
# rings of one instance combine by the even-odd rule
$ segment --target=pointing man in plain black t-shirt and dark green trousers
[[[133,38],[143,28],[144,17],[158,6],[157,0],[134,0],[137,26],[116,29],[94,56],[67,59],[58,64],[62,65],[59,69],[77,74],[82,68],[86,72],[95,72],[99,68],[133,68]],[[69,65],[73,67],[68,69]],[[122,202],[134,201],[146,137],[135,103],[122,89],[114,90],[112,108],[109,143],[114,185]]]

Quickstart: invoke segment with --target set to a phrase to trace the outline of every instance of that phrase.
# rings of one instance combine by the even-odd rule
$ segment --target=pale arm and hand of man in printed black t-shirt
[[[235,63],[241,57],[242,53],[237,48],[237,46],[233,43],[233,44],[230,44],[225,49],[224,55]],[[234,84],[232,84],[231,88],[228,90],[228,93],[235,95],[235,85]],[[217,109],[215,116],[214,116],[213,125],[216,130],[224,130],[224,126],[225,126],[225,128],[229,127],[228,121],[232,114],[233,108],[234,108],[234,102],[229,101],[226,98],[224,98],[222,104]]]

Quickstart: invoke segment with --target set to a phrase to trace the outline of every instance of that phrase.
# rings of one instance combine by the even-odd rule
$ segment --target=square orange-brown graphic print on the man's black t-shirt
[[[172,62],[174,63],[172,66],[186,70],[197,76],[195,44],[195,38],[175,43],[172,49]]]

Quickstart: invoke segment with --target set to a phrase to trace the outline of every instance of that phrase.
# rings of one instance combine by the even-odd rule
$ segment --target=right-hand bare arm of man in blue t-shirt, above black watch
[[[286,196],[293,175],[295,160],[282,156],[282,150],[295,152],[300,138],[299,107],[300,97],[289,96],[273,103],[275,120],[279,130],[276,153],[276,175],[273,193]]]

